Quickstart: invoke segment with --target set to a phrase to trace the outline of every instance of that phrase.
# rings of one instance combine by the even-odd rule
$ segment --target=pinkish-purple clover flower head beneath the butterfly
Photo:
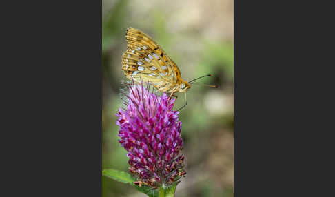
[[[150,89],[150,88],[149,88]],[[171,185],[186,175],[179,112],[174,99],[151,93],[143,85],[130,86],[127,109],[119,109],[119,143],[128,151],[129,171],[136,185]]]

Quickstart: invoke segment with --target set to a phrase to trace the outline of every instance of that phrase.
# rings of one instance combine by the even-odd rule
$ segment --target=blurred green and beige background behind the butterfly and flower
[[[119,145],[115,113],[121,105],[119,88],[125,79],[121,56],[127,48],[125,30],[139,28],[152,37],[181,70],[184,80],[212,74],[187,92],[181,110],[186,178],[176,197],[233,196],[233,1],[103,0],[103,169],[128,172]],[[185,97],[181,93],[175,110]],[[103,196],[145,196],[132,186],[103,177]]]

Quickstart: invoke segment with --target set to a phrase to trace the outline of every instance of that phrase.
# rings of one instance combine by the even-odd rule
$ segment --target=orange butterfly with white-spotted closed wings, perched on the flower
[[[151,83],[170,94],[190,89],[176,63],[152,38],[135,28],[128,28],[125,37],[128,49],[122,56],[122,70],[128,79]]]

